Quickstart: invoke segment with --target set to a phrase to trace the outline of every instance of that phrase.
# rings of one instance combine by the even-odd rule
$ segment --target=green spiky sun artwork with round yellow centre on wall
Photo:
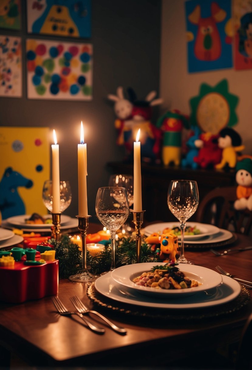
[[[237,124],[235,108],[239,98],[228,92],[228,81],[220,81],[214,87],[203,83],[198,96],[190,99],[190,125],[203,132],[217,135],[224,127]]]

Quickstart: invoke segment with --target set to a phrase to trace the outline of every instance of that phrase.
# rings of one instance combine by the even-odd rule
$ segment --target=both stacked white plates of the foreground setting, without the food
[[[164,263],[160,263],[160,265]],[[190,279],[201,283],[198,287],[164,290],[136,285],[134,277],[150,271],[157,263],[136,263],[119,267],[100,276],[95,289],[112,300],[131,305],[163,308],[194,309],[221,305],[235,299],[241,292],[238,282],[202,266],[179,264],[177,267]]]

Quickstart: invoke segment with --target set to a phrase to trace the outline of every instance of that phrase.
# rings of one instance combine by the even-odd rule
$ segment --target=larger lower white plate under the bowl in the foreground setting
[[[154,309],[194,309],[222,305],[240,294],[241,287],[237,281],[227,276],[222,276],[222,278],[223,283],[216,288],[179,299],[176,297],[156,299],[151,296],[143,296],[136,290],[116,283],[111,277],[111,272],[98,277],[95,281],[95,289],[105,297],[130,305],[153,307]]]

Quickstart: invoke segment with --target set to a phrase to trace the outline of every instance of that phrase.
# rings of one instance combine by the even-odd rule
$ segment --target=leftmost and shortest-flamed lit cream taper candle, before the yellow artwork
[[[52,213],[60,212],[59,189],[59,144],[56,132],[53,130],[54,144],[52,144]]]

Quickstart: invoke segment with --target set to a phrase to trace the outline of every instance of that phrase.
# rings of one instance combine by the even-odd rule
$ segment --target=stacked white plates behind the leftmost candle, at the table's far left
[[[21,229],[26,232],[48,232],[51,229],[52,223],[31,224],[26,223],[25,220],[29,219],[31,215],[20,215],[7,218],[2,221],[2,227],[6,229]],[[51,215],[44,215],[43,218],[51,218]],[[71,218],[70,216],[61,215],[61,230],[71,229],[78,227],[78,219]]]

